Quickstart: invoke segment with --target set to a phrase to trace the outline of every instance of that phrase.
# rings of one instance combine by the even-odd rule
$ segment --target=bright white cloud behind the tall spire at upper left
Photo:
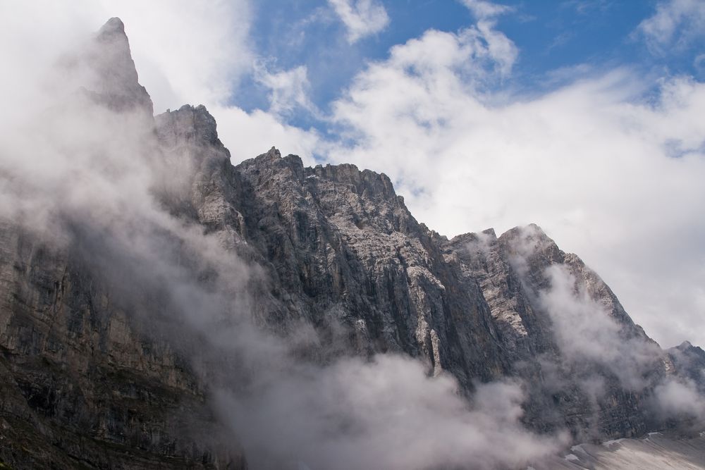
[[[188,1],[110,2],[80,1],[71,6],[56,2],[0,5],[0,93],[5,106],[0,123],[12,123],[21,113],[46,106],[37,101],[37,83],[51,63],[73,51],[111,16],[125,23],[140,83],[154,101],[155,113],[183,104],[205,104],[218,121],[221,140],[233,162],[252,158],[272,145],[301,154],[313,163],[316,132],[283,123],[293,107],[312,111],[307,99],[305,68],[278,73],[259,70],[257,77],[271,91],[271,113],[250,113],[228,105],[243,74],[256,72],[256,54],[250,46],[250,2],[216,1],[201,6]],[[31,30],[28,25],[32,25]]]

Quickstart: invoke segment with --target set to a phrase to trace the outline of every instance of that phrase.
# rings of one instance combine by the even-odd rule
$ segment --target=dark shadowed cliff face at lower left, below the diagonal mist
[[[16,468],[224,464],[188,363],[130,327],[71,249],[0,228],[0,459]]]

